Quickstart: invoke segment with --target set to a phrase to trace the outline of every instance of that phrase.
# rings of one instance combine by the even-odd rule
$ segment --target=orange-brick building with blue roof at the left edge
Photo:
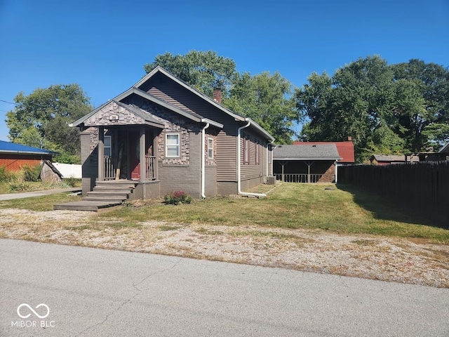
[[[36,166],[51,160],[56,152],[0,140],[0,167],[6,171],[18,171],[23,166]]]

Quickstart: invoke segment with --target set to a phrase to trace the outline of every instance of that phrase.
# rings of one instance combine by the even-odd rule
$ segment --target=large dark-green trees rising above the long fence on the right
[[[295,92],[307,124],[302,140],[347,140],[356,160],[373,152],[400,154],[441,145],[449,138],[448,70],[420,60],[388,65],[360,58],[335,72],[311,74]],[[446,93],[446,94],[445,94]]]

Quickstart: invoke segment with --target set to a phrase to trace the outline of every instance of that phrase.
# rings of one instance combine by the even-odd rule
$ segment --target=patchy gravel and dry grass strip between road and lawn
[[[286,267],[449,288],[449,245],[257,226],[100,221],[95,213],[0,210],[0,237]]]

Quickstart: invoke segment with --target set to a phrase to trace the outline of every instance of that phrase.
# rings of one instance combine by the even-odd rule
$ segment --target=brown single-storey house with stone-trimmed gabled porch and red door
[[[90,114],[81,128],[83,194],[132,180],[131,199],[183,190],[194,198],[244,194],[272,176],[274,138],[161,67]],[[92,192],[91,192],[92,193]]]

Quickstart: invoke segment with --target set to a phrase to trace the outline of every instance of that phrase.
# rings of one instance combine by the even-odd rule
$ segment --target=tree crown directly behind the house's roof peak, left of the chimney
[[[215,88],[222,88],[226,93],[236,75],[234,60],[219,56],[215,51],[157,55],[153,62],[144,65],[145,72],[151,72],[158,65],[209,97]]]

